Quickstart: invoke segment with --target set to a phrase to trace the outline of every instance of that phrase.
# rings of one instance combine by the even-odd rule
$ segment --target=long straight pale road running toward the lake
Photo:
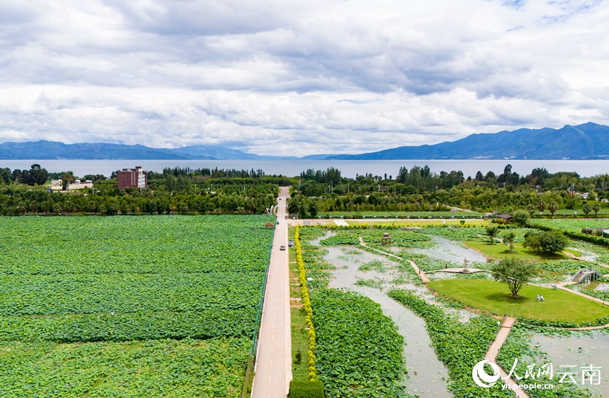
[[[251,389],[252,398],[285,398],[292,380],[292,338],[289,313],[289,258],[287,250],[287,220],[285,200],[289,188],[280,187],[273,251],[266,282],[262,309],[260,340],[256,355],[256,375]]]

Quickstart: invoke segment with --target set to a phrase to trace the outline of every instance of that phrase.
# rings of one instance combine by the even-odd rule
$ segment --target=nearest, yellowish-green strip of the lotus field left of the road
[[[0,343],[0,394],[237,398],[250,344],[249,338]]]

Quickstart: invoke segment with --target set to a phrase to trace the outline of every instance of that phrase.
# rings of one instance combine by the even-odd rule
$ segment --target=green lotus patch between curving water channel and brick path
[[[389,291],[388,296],[410,308],[423,318],[438,359],[448,368],[448,388],[456,398],[511,397],[499,385],[480,388],[473,383],[471,370],[484,359],[490,344],[497,334],[497,321],[487,315],[472,317],[462,323],[447,314],[438,305],[427,303],[404,290]]]

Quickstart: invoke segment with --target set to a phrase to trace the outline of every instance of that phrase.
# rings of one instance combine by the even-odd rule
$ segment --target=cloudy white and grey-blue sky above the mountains
[[[268,155],[609,124],[609,0],[0,0],[0,142]]]

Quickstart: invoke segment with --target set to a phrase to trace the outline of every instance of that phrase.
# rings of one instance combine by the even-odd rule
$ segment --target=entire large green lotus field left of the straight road
[[[4,218],[0,390],[11,397],[238,397],[270,220]]]

